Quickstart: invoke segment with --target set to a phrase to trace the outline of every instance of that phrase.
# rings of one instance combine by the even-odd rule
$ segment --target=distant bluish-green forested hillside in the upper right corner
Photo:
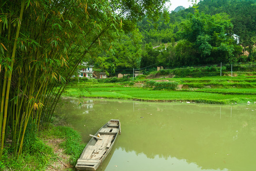
[[[243,46],[256,37],[256,0],[204,0],[199,2],[199,10],[210,15],[226,12]]]

